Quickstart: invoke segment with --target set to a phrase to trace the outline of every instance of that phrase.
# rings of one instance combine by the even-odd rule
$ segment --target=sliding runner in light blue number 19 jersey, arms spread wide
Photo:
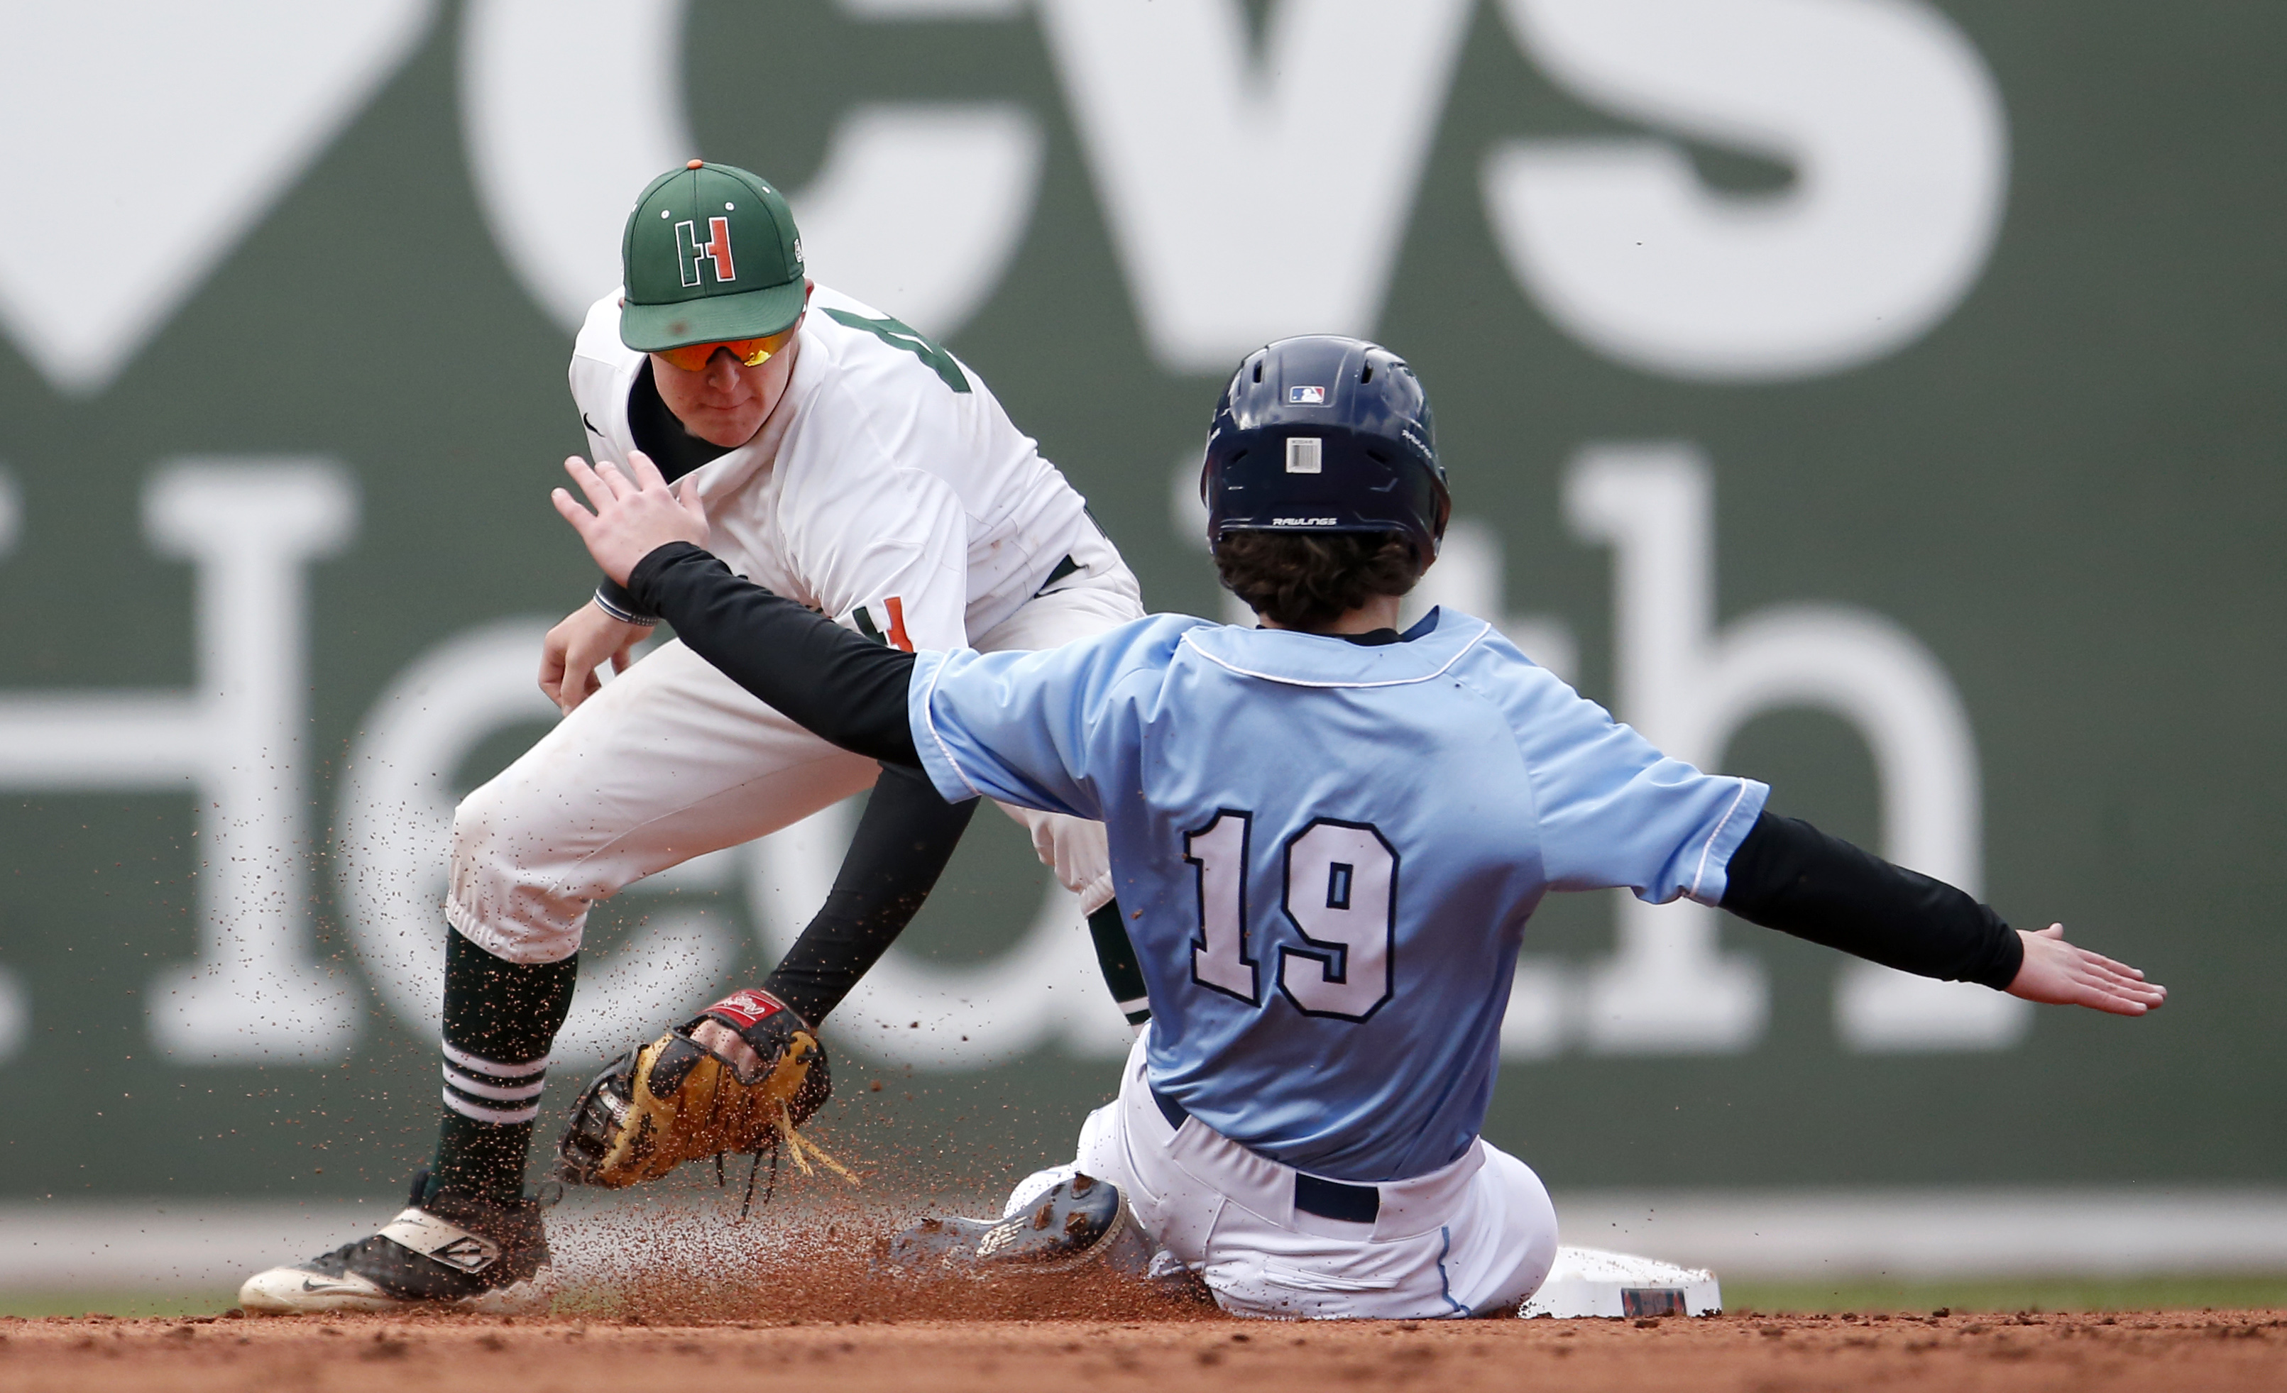
[[[1242,629],[1160,615],[1054,652],[890,652],[700,549],[643,460],[569,462],[597,563],[700,656],[947,798],[1102,819],[1153,1020],[1079,1155],[1002,1221],[908,1256],[1132,1253],[1242,1315],[1516,1308],[1557,1219],[1477,1130],[1516,949],[1551,890],[1690,897],[1926,977],[2141,1016],[2159,986],[1665,757],[1484,620],[1397,599],[1448,517],[1429,403],[1356,339],[1251,355],[1203,494]]]

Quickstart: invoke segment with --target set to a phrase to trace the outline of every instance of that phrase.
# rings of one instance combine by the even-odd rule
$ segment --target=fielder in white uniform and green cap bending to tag
[[[572,355],[588,444],[622,467],[640,451],[695,487],[741,574],[908,652],[1054,647],[1141,618],[1082,496],[977,373],[810,281],[794,217],[759,176],[700,160],[659,176],[622,263],[624,286],[595,302]],[[373,1237],[249,1279],[249,1311],[544,1299],[524,1169],[597,899],[880,778],[835,899],[766,984],[768,1002],[816,1022],[942,869],[965,807],[787,721],[682,643],[631,661],[652,622],[606,581],[558,624],[542,686],[563,723],[455,814],[435,1167]],[[592,675],[604,659],[622,668],[611,684]],[[1118,922],[1102,826],[1009,812],[1102,947]],[[1114,981],[1114,995],[1141,1016],[1139,986]]]

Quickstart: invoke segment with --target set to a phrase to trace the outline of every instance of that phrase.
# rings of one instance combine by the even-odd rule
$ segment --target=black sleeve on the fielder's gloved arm
[[[919,769],[883,764],[835,892],[762,990],[823,1020],[913,922],[972,812],[974,798],[947,803]]]

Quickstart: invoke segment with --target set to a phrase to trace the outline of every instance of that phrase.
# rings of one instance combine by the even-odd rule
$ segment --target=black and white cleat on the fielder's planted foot
[[[405,1212],[373,1237],[238,1288],[252,1315],[325,1311],[483,1311],[524,1315],[549,1304],[553,1272],[540,1201],[496,1203],[437,1189],[414,1171]]]

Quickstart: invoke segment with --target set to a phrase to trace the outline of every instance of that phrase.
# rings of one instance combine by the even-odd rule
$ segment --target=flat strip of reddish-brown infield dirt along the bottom
[[[1141,1313],[1139,1313],[1141,1315]],[[1139,1320],[636,1324],[645,1318],[0,1320],[0,1388],[2280,1388],[2271,1311],[1720,1315],[1285,1324]]]

